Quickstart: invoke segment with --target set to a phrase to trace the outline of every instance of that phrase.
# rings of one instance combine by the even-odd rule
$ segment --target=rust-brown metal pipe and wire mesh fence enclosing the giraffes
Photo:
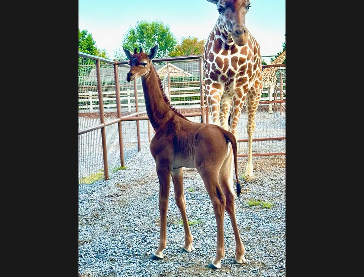
[[[201,55],[154,59],[171,104],[189,120],[209,122]],[[282,66],[282,65],[274,65]],[[272,67],[272,65],[263,66]],[[111,61],[79,52],[79,189],[124,166],[154,135],[146,115],[141,78],[126,81],[127,61]],[[277,91],[264,93],[256,115],[253,155],[285,154],[285,68],[277,70]],[[202,76],[202,78],[200,78]],[[281,78],[282,76],[282,78]],[[118,92],[118,93],[116,93]],[[273,104],[273,114],[268,104]],[[246,110],[241,113],[239,153],[247,153]],[[240,154],[239,156],[246,156]]]

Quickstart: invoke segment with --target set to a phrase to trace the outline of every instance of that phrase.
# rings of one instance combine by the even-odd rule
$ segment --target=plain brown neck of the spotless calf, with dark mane
[[[166,97],[161,88],[161,80],[155,71],[154,66],[150,65],[149,73],[142,76],[142,85],[145,99],[145,106],[150,123],[154,130],[166,123],[175,115],[166,103]]]

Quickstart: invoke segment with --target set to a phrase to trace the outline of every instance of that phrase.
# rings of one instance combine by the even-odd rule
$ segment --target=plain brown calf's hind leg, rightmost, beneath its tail
[[[239,228],[236,223],[236,217],[235,217],[235,194],[234,189],[230,186],[228,179],[229,176],[232,175],[230,173],[230,163],[232,161],[232,151],[230,151],[229,155],[227,156],[226,160],[224,161],[223,165],[221,166],[220,172],[219,172],[219,183],[221,186],[221,189],[226,197],[226,206],[225,210],[229,214],[231,223],[233,225],[233,231],[234,231],[234,237],[235,237],[235,261],[238,264],[241,264],[242,262],[245,262],[244,254],[245,254],[245,247],[243,243],[241,242],[240,234],[239,234]]]

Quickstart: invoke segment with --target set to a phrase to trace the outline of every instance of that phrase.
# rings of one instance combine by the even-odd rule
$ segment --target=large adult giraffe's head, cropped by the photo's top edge
[[[249,39],[245,26],[245,15],[250,7],[250,0],[207,0],[217,5],[217,11],[223,27],[235,44],[244,46]]]

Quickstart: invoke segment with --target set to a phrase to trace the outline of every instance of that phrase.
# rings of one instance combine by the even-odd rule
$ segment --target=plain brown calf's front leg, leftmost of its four
[[[159,213],[161,216],[161,233],[159,237],[159,246],[154,254],[150,257],[152,260],[159,260],[163,258],[163,250],[167,245],[167,208],[169,196],[169,184],[171,181],[171,170],[168,161],[158,161],[155,166],[159,179]]]

